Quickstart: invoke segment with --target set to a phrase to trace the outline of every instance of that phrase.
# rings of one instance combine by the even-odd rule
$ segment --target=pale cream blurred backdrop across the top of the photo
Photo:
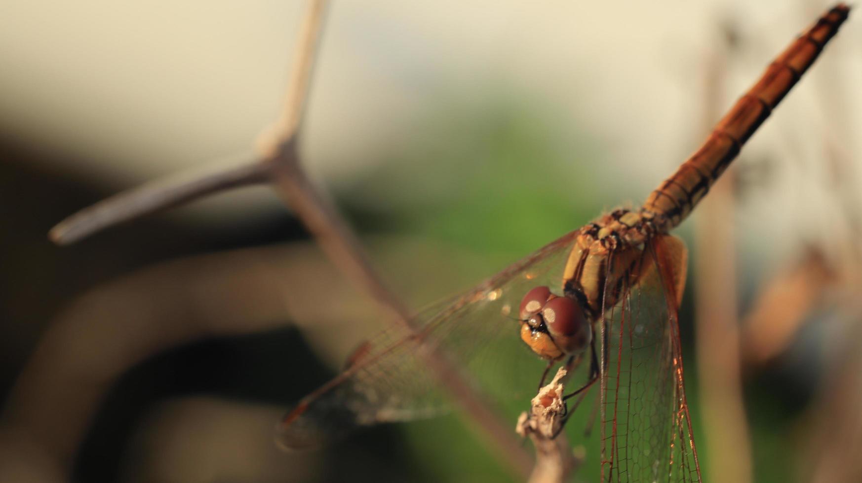
[[[699,141],[703,59],[721,43],[721,21],[737,22],[746,40],[729,64],[729,106],[828,4],[334,2],[303,137],[306,162],[324,183],[339,183],[370,169],[382,146],[409,135],[441,96],[472,102],[497,89],[554,106],[564,113],[562,132],[587,129],[622,191],[642,197]],[[72,153],[68,170],[118,189],[241,158],[278,111],[303,9],[265,0],[5,2],[0,128]],[[857,15],[746,146],[752,158],[797,160],[781,165],[784,194],[749,208],[741,231],[764,218],[780,230],[788,217],[828,209],[828,201],[812,201],[810,213],[776,213],[822,176],[801,164],[821,156],[822,133],[859,158]],[[830,111],[836,106],[840,119]],[[259,192],[243,199],[273,202]]]

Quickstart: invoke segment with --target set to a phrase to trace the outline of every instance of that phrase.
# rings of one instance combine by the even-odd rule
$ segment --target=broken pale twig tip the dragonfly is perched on
[[[568,480],[578,461],[572,454],[565,432],[559,432],[565,417],[564,392],[565,368],[559,368],[547,386],[542,387],[532,400],[529,414],[523,412],[518,418],[515,431],[529,437],[536,449],[536,464],[528,479],[529,483],[559,483]]]

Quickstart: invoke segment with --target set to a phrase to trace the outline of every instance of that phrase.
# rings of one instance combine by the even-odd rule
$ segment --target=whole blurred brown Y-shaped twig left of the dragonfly
[[[372,294],[393,319],[412,329],[407,308],[386,287],[347,223],[324,201],[301,167],[297,134],[303,122],[315,46],[322,30],[326,3],[325,0],[311,0],[309,4],[300,28],[281,115],[260,139],[258,160],[206,178],[152,183],[116,195],[85,208],[55,226],[50,233],[53,241],[66,245],[108,226],[194,201],[205,195],[269,181],[279,197],[303,220],[332,262],[355,284]],[[434,350],[421,352],[429,369],[434,371],[453,399],[496,444],[501,451],[501,459],[509,462],[521,474],[528,474],[532,467],[530,457],[510,430],[472,390],[458,368]]]

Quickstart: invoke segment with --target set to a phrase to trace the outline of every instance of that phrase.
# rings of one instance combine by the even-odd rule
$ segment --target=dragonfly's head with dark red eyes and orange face
[[[557,360],[590,344],[592,329],[578,302],[536,287],[521,301],[521,338],[540,357]]]

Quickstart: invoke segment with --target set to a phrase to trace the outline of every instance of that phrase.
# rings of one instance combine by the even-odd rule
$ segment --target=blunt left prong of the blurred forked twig
[[[110,196],[66,218],[48,232],[57,245],[70,245],[108,226],[176,207],[227,189],[265,183],[268,167],[244,164],[203,175],[180,175]]]

